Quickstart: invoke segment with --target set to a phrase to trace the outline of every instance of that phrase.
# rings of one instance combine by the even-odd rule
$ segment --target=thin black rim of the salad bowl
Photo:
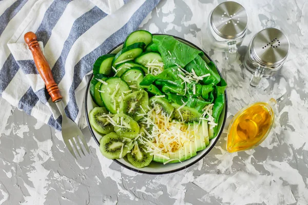
[[[161,34],[153,34],[153,35],[161,35]],[[163,34],[163,35],[168,35],[168,34]],[[183,42],[186,42],[187,44],[189,44],[189,45],[191,45],[191,46],[194,46],[194,47],[197,48],[198,50],[202,51],[202,52],[204,53],[204,55],[205,55],[210,61],[212,61],[212,62],[214,63],[214,61],[213,61],[202,49],[200,49],[200,48],[199,48],[198,46],[196,46],[195,44],[192,44],[192,43],[188,42],[188,40],[185,40],[185,39],[183,39],[183,38],[181,38],[181,37],[178,37],[178,36],[174,36],[174,35],[170,35],[170,36],[172,36],[172,37],[174,37],[174,38],[177,38],[177,39],[180,39],[180,40],[183,40]],[[124,43],[124,42],[123,42],[123,43]],[[112,51],[114,51],[115,49],[117,49],[119,46],[121,46],[123,43],[121,43],[121,44],[115,46],[115,47],[114,47],[113,49],[111,49],[108,53],[111,53]],[[214,63],[214,64],[215,64],[215,63]],[[216,66],[216,64],[215,64],[215,66]],[[216,66],[216,68],[217,68],[217,66]],[[219,69],[217,69],[217,71],[218,71],[220,77],[222,78],[222,75],[221,75]],[[91,132],[91,135],[92,135],[92,137],[94,138],[94,140],[97,142],[98,146],[100,146],[100,142],[99,142],[99,140],[95,137],[95,134],[94,134],[94,132],[93,132],[93,129],[92,129],[91,125],[90,125],[89,115],[88,115],[88,112],[87,112],[87,110],[88,110],[88,102],[87,102],[88,90],[89,90],[90,81],[91,81],[92,78],[93,78],[93,74],[91,74],[91,77],[90,77],[90,80],[89,80],[89,82],[88,82],[87,89],[86,89],[86,95],[85,95],[85,112],[86,112],[87,124],[88,124],[89,130],[90,130],[90,132]],[[183,167],[180,167],[180,168],[177,168],[177,169],[174,169],[174,170],[164,171],[164,172],[147,172],[147,171],[142,171],[142,170],[134,169],[134,168],[132,168],[132,167],[128,167],[128,166],[124,165],[124,163],[118,161],[117,159],[113,159],[113,161],[117,162],[117,163],[118,163],[119,165],[121,165],[122,167],[125,167],[125,168],[127,168],[127,169],[129,169],[129,170],[132,170],[132,171],[134,171],[134,172],[139,172],[139,173],[143,173],[143,174],[152,174],[152,175],[170,174],[170,173],[174,173],[174,172],[178,172],[178,171],[184,170],[184,169],[186,169],[186,168],[188,168],[188,167],[194,165],[194,164],[197,163],[200,159],[202,159],[203,157],[205,157],[205,155],[207,155],[207,153],[209,153],[209,151],[211,151],[211,149],[213,149],[213,147],[216,145],[216,143],[217,143],[218,139],[220,138],[220,135],[221,135],[221,133],[222,133],[222,131],[223,131],[223,128],[224,128],[224,125],[225,125],[225,122],[226,122],[226,118],[227,118],[227,111],[228,111],[228,97],[227,97],[227,91],[226,91],[226,90],[225,90],[225,93],[224,93],[224,94],[225,94],[225,116],[224,116],[224,119],[223,119],[223,122],[222,122],[222,126],[221,126],[221,129],[220,129],[220,131],[219,131],[217,137],[215,137],[214,139],[211,139],[211,140],[215,140],[215,141],[213,142],[213,145],[211,145],[211,147],[209,147],[209,149],[208,149],[204,154],[202,154],[201,156],[199,156],[198,158],[196,158],[196,160],[190,162],[188,165],[183,166]]]

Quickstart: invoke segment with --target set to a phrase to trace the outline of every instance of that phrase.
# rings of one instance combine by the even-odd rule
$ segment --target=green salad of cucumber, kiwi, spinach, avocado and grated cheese
[[[139,30],[93,65],[91,127],[100,150],[134,167],[187,160],[218,135],[226,83],[203,52],[169,35]]]

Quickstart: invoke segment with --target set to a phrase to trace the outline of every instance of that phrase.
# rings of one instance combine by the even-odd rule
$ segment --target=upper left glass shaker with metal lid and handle
[[[210,42],[216,49],[226,51],[229,61],[237,56],[247,30],[248,15],[245,8],[236,2],[219,4],[208,16],[208,33]]]

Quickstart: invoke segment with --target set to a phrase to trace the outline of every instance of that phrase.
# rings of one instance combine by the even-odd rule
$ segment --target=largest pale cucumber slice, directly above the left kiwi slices
[[[123,99],[123,92],[130,90],[127,83],[119,77],[110,77],[101,85],[101,98],[107,110],[112,114],[118,112]]]

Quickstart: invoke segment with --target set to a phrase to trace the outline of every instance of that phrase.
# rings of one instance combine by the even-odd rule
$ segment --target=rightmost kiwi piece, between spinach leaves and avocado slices
[[[174,119],[181,120],[184,122],[194,122],[199,121],[199,118],[201,117],[201,114],[194,108],[189,108],[187,106],[184,106],[180,110],[180,105],[176,103],[171,103],[171,106],[175,108],[174,110]],[[181,112],[181,115],[180,113]],[[183,117],[183,118],[182,118]]]

